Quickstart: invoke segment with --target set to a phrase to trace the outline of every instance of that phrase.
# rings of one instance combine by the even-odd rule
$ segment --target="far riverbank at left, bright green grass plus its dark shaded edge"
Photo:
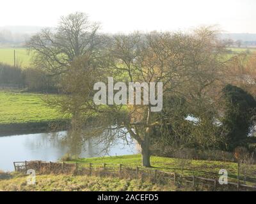
[[[45,97],[44,94],[0,91],[0,135],[45,131],[52,122],[65,125],[67,118],[47,106]]]

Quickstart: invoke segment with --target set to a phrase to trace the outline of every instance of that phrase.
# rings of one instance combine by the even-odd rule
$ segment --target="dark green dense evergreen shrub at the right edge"
[[[229,84],[224,87],[223,96],[223,135],[227,144],[226,149],[233,151],[236,147],[248,145],[246,138],[253,126],[256,101],[248,92]]]

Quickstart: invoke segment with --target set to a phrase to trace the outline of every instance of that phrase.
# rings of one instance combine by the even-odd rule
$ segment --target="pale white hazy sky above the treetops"
[[[83,11],[102,31],[177,30],[218,24],[230,33],[256,33],[255,0],[0,0],[0,26],[54,26]]]

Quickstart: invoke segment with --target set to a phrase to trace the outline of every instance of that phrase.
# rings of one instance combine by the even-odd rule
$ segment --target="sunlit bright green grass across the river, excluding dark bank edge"
[[[0,124],[60,120],[63,116],[47,106],[44,94],[0,91]]]

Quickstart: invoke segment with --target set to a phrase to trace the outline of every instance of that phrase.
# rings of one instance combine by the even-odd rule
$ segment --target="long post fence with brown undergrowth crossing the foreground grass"
[[[246,185],[238,180],[221,185],[218,179],[198,177],[195,175],[182,175],[180,173],[160,171],[151,168],[136,168],[124,164],[81,164],[81,163],[52,163],[43,161],[20,161],[13,163],[15,171],[26,173],[29,169],[36,174],[71,173],[73,175],[87,175],[99,177],[119,177],[122,179],[149,180],[157,184],[175,184],[179,187],[193,187],[195,190],[207,191],[256,191],[256,182]],[[252,184],[252,183],[251,183]]]

